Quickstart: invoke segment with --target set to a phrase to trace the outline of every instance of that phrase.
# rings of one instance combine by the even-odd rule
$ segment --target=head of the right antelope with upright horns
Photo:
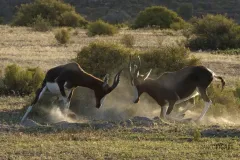
[[[132,68],[132,58],[130,57],[129,62],[129,74],[131,77],[131,84],[134,86],[134,94],[135,98],[133,100],[134,103],[138,103],[139,96],[142,94],[142,84],[144,81],[149,77],[149,75],[152,72],[152,69],[150,69],[146,74],[140,74],[140,68],[141,68],[141,59],[138,56],[138,65],[134,64],[134,68]]]

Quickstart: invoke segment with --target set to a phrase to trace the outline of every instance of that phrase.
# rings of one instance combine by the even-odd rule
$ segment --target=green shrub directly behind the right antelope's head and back
[[[176,71],[185,66],[198,64],[199,60],[190,56],[184,46],[173,45],[152,49],[141,53],[143,69],[152,68],[153,72],[160,74],[166,71]],[[145,70],[145,71],[147,71]]]

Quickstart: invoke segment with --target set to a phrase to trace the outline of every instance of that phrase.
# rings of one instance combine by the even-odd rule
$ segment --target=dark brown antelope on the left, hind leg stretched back
[[[36,91],[36,97],[31,106],[28,107],[21,123],[25,120],[29,112],[32,110],[32,107],[39,101],[39,99],[41,99],[42,95],[47,90],[59,97],[59,99],[63,100],[66,108],[69,108],[70,100],[76,87],[82,86],[90,88],[95,93],[96,108],[100,108],[103,104],[105,96],[117,87],[121,72],[122,70],[115,75],[112,86],[109,86],[108,74],[103,80],[98,79],[85,72],[77,63],[69,63],[50,69],[46,73],[42,87]]]

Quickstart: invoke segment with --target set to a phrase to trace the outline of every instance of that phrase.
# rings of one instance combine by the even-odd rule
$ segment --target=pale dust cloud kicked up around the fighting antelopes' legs
[[[160,106],[147,94],[142,94],[137,104],[133,103],[134,88],[130,85],[128,79],[121,77],[118,87],[106,96],[103,106],[100,109],[95,108],[95,97],[90,89],[79,89],[74,94],[87,94],[83,99],[79,100],[79,96],[75,96],[70,108],[77,108],[80,111],[76,113],[76,117],[64,115],[58,106],[53,107],[50,113],[50,121],[55,123],[59,121],[68,122],[86,122],[88,120],[108,120],[121,121],[132,118],[134,116],[144,116],[153,118],[160,115]],[[89,94],[90,93],[90,94]],[[200,116],[201,111],[187,111],[184,118],[196,119]],[[203,125],[240,125],[240,118],[231,115],[221,115],[214,117],[206,114],[200,122]]]

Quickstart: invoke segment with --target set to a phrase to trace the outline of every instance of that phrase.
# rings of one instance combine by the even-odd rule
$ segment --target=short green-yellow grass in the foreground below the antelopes
[[[18,125],[17,109],[24,105],[24,98],[1,98],[0,103],[0,159],[3,160],[238,159],[240,156],[237,126],[160,123],[154,127],[119,126],[109,130],[22,128]],[[211,129],[216,129],[214,135],[200,135]],[[224,132],[217,134],[221,131]]]

